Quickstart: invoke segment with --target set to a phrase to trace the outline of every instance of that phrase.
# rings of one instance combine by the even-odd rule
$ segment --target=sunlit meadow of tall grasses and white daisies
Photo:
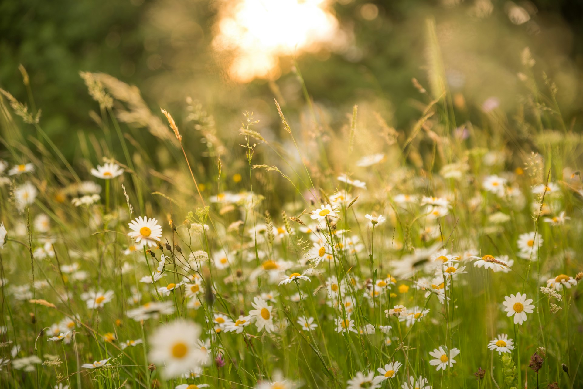
[[[74,161],[22,69],[29,102],[0,101],[0,387],[583,387],[581,134],[528,51],[506,115],[449,91],[429,40],[401,129],[324,112],[297,70],[305,111],[275,101],[275,139],[82,73],[103,135],[72,134]]]

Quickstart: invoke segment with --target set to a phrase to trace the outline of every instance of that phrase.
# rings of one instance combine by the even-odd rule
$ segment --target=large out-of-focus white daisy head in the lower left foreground
[[[163,365],[163,376],[180,377],[193,366],[199,366],[202,358],[197,341],[201,327],[194,321],[175,320],[156,328],[150,335],[149,358],[156,365]]]

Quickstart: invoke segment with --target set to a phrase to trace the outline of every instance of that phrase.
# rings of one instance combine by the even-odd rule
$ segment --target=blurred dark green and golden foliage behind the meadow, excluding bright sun
[[[103,72],[134,84],[154,114],[158,107],[167,108],[179,126],[186,115],[180,114],[185,112],[185,98],[200,101],[214,116],[219,135],[233,138],[230,147],[239,142],[243,111],[254,111],[261,119],[265,137],[278,137],[274,97],[286,115],[300,117],[307,109],[293,71],[295,60],[308,94],[322,108],[319,114],[328,112],[333,118],[333,131],[348,122],[345,113],[352,112],[354,104],[404,129],[420,116],[414,101],[419,91],[412,78],[428,84],[429,18],[436,22],[448,87],[460,93],[463,104],[480,105],[495,97],[501,109],[514,111],[524,88],[516,76],[521,52],[529,47],[536,59],[533,72],[540,78],[544,70],[557,83],[557,98],[566,110],[562,114],[575,129],[580,127],[581,2],[327,2],[345,33],[342,48],[322,44],[308,53],[298,50],[280,59],[275,74],[245,82],[229,75],[228,52],[218,52],[213,45],[224,10],[237,2],[2,1],[0,87],[31,105],[18,70],[22,63],[30,75],[34,104],[43,111],[41,125],[69,160],[80,153],[73,137],[102,131],[90,118],[89,111],[99,111],[99,106],[87,95],[80,71]],[[21,128],[28,132],[25,137],[36,135],[33,126]],[[152,136],[143,139],[150,145],[157,141]],[[202,150],[200,141],[185,137],[193,150]]]

